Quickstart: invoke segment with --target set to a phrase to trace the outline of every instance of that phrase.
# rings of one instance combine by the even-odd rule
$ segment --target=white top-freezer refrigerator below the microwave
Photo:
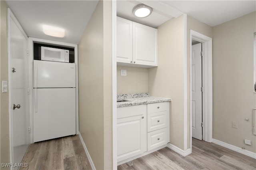
[[[76,134],[75,66],[34,60],[34,142]]]

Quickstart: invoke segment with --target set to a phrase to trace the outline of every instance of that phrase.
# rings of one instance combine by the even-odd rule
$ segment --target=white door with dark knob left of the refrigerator
[[[20,163],[29,145],[28,37],[10,14],[10,133],[12,162]],[[14,107],[14,105],[16,107]]]

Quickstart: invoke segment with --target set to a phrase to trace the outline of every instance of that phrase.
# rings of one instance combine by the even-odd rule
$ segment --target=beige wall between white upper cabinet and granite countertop
[[[121,76],[125,69],[127,76]],[[117,94],[148,93],[148,69],[117,66]]]

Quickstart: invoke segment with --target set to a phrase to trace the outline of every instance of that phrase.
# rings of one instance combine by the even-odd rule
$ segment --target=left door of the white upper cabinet
[[[117,17],[116,23],[116,61],[132,61],[132,21]]]

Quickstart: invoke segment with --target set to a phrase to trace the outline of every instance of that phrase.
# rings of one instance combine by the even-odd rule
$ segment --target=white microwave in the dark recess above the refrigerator
[[[41,60],[69,63],[69,50],[42,46]]]

